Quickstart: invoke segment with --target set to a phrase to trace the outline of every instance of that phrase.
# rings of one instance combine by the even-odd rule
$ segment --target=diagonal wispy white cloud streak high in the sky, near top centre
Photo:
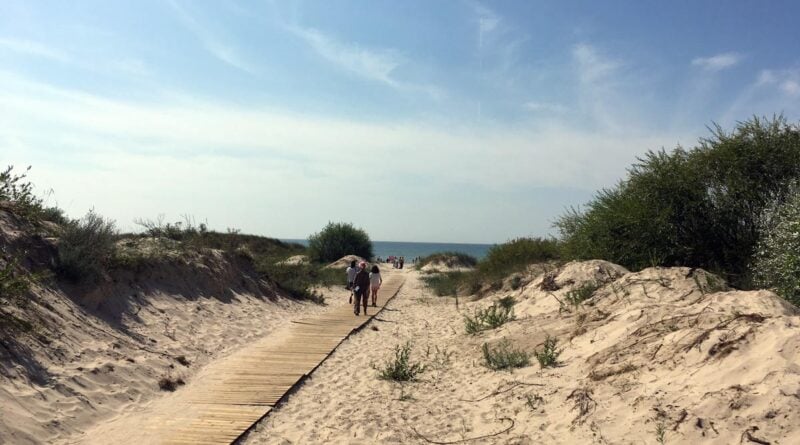
[[[288,29],[308,43],[319,56],[340,69],[392,88],[420,91],[435,98],[442,95],[442,91],[433,85],[398,79],[395,70],[409,61],[396,50],[373,49],[344,43],[313,28],[293,26]]]

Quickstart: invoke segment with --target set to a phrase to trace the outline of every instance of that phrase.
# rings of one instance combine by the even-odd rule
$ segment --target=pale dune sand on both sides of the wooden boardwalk
[[[418,271],[388,272],[407,277],[395,300],[244,443],[800,443],[796,308],[771,292],[730,290],[699,269],[632,273],[587,261],[535,270],[517,290],[458,305],[434,297]],[[570,304],[587,283],[593,296]],[[326,293],[346,304],[345,291]],[[142,419],[181,406],[196,378],[248,344],[278,338],[270,336],[300,311],[327,310],[245,294],[144,293],[122,319],[137,342],[72,300],[43,295],[63,332],[46,352],[33,351],[48,380],[4,368],[0,437],[8,443],[148,443]],[[464,315],[507,296],[516,320],[465,333]],[[484,343],[532,352],[548,336],[561,350],[556,367],[483,364]],[[406,342],[412,361],[426,365],[420,379],[378,379],[376,368]],[[165,375],[187,384],[161,392]]]

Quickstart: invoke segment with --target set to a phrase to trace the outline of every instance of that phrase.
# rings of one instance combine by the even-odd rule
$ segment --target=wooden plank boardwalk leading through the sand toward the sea
[[[190,396],[179,416],[153,425],[164,444],[230,444],[281,402],[351,333],[360,329],[392,299],[405,278],[389,275],[381,286],[378,307],[369,316],[353,315],[346,305],[294,321],[289,334],[247,349],[209,376],[202,392]]]

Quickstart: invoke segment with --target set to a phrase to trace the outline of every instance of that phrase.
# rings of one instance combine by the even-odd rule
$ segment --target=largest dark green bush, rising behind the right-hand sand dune
[[[585,210],[556,221],[568,258],[632,270],[690,266],[746,286],[766,203],[800,178],[800,129],[781,117],[719,126],[691,150],[648,152]]]

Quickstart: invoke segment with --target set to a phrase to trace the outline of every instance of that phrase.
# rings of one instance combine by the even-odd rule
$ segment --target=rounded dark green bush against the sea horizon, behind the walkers
[[[308,237],[308,256],[312,261],[331,262],[345,255],[372,258],[372,241],[367,232],[349,223],[328,223]]]

